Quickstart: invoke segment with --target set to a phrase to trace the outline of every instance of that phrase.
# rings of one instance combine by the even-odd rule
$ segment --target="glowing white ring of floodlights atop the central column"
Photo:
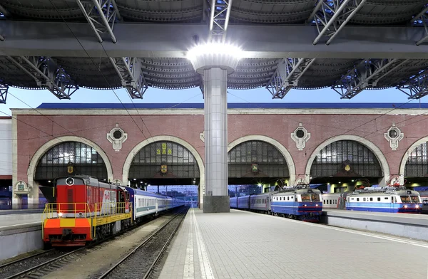
[[[197,56],[203,55],[227,55],[240,59],[243,57],[243,51],[238,46],[228,43],[205,43],[190,49],[187,58],[193,60]]]

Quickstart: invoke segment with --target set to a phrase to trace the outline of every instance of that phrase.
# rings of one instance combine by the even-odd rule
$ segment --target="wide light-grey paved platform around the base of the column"
[[[428,278],[428,243],[267,214],[190,209],[160,279]]]

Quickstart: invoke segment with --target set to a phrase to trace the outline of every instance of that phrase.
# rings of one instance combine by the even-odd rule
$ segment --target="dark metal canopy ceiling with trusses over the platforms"
[[[28,21],[38,23],[31,23],[29,28]],[[66,26],[61,27],[64,22]],[[43,23],[56,26],[46,28]],[[266,87],[272,98],[284,98],[292,88],[326,87],[335,89],[341,98],[353,98],[365,89],[391,87],[402,90],[409,98],[428,94],[428,57],[417,53],[428,53],[428,0],[1,0],[0,102],[6,102],[5,92],[9,86],[47,88],[58,98],[68,99],[79,86],[126,88],[132,98],[143,98],[148,87],[182,89],[202,85],[202,78],[183,58],[183,51],[180,52],[183,41],[174,41],[171,33],[156,33],[161,28],[153,23],[156,26],[180,24],[186,34],[199,35],[198,30],[203,28],[211,32],[208,38],[223,40],[226,31],[231,30],[233,38],[244,39],[247,46],[248,42],[258,43],[254,47],[257,51],[249,51],[252,54],[240,60],[235,73],[229,75],[228,88]],[[139,25],[136,27],[136,24]],[[253,29],[248,31],[248,26]],[[282,29],[279,26],[283,26]],[[397,33],[394,40],[392,31],[380,33],[379,28],[385,26],[407,29],[400,29],[402,33]],[[61,28],[67,28],[68,34]],[[124,30],[136,28],[149,31],[153,28],[156,36],[138,36],[135,31],[124,35]],[[234,28],[240,31],[233,31]],[[271,33],[289,32],[276,34],[281,44],[273,39],[265,41],[263,30],[267,29],[263,28],[271,28]],[[377,28],[378,33],[373,28]],[[78,45],[71,47],[71,42],[76,44],[77,40],[70,33],[81,38]],[[98,47],[98,57],[92,54],[96,47],[89,46],[88,36],[89,41],[98,42],[98,46],[103,44]],[[126,43],[123,37],[128,40]],[[27,41],[18,43],[24,38]],[[297,43],[286,42],[287,38]],[[37,40],[46,40],[46,46]],[[317,53],[350,48],[350,40],[361,41],[362,48],[370,48],[368,43],[377,40],[382,47],[372,50],[377,53],[376,57],[362,58],[361,53],[352,56],[340,52],[335,56],[333,51],[327,58]],[[62,43],[61,48],[51,48],[54,41]],[[125,44],[130,45],[129,41],[136,44],[131,46],[134,49],[141,42],[145,53],[150,55],[131,56],[135,51],[129,51],[128,57],[123,57],[122,51],[121,56],[115,56],[112,48],[124,49]],[[152,44],[143,46],[147,41]],[[115,43],[113,47],[111,42]],[[71,51],[80,48],[80,43],[84,53],[91,57],[83,57],[83,53],[76,56],[77,52]],[[299,56],[302,43],[307,46]],[[328,46],[322,46],[325,44]],[[179,55],[168,58],[154,54],[160,49],[168,53],[166,50],[174,46],[176,50],[170,53]],[[297,51],[290,51],[290,46]],[[311,47],[315,51],[308,51]],[[14,52],[13,48],[21,51]],[[25,48],[45,54],[26,54],[31,52]],[[276,52],[260,54],[268,53],[269,48],[275,48]],[[116,49],[116,53],[120,52]],[[379,56],[379,53],[387,54]]]

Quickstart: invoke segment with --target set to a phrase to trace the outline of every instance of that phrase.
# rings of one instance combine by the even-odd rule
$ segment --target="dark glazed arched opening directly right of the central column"
[[[228,152],[230,196],[258,194],[290,178],[287,160],[277,147],[253,139],[235,145]]]

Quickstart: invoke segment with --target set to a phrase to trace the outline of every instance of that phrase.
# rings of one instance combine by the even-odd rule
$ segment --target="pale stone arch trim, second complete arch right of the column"
[[[331,144],[332,142],[337,142],[340,140],[352,140],[355,142],[360,142],[360,144],[365,145],[370,151],[373,152],[374,156],[376,156],[377,161],[379,161],[380,167],[382,168],[382,172],[384,175],[384,179],[382,179],[382,182],[380,184],[386,184],[389,179],[389,164],[387,162],[387,158],[385,158],[382,151],[377,147],[376,144],[373,142],[370,142],[370,140],[365,139],[364,137],[356,136],[356,135],[339,135],[336,137],[330,137],[330,139],[327,139],[325,142],[322,142],[315,148],[315,150],[310,155],[309,159],[307,160],[306,164],[306,170],[305,170],[305,177],[310,177],[310,168],[312,167],[312,163],[314,162],[315,157],[317,157],[317,154],[328,144]],[[384,185],[379,185],[384,186]]]

